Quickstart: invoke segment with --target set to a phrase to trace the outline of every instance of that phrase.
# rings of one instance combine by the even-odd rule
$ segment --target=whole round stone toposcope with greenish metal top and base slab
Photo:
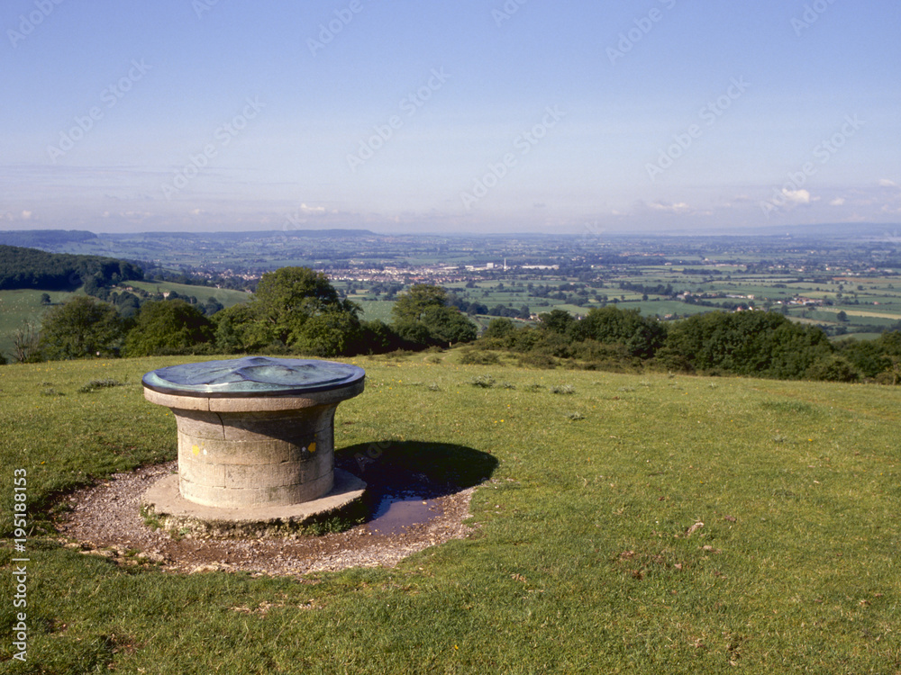
[[[168,526],[204,534],[287,529],[359,498],[334,468],[338,404],[363,392],[355,365],[250,356],[145,374],[144,398],[172,410],[178,474],[144,495]]]

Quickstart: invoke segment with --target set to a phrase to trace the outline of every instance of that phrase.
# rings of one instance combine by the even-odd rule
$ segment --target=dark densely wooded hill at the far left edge
[[[112,257],[47,253],[37,248],[0,244],[0,289],[71,291],[88,279],[116,284],[144,278],[141,268]]]

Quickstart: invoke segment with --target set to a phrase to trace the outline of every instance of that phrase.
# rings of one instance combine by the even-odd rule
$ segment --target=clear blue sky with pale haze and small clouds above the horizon
[[[894,0],[6,0],[0,229],[901,221]]]

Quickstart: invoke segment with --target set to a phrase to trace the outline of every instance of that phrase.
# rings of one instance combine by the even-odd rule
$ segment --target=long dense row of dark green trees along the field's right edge
[[[465,360],[504,350],[523,365],[607,370],[644,368],[688,374],[733,374],[782,380],[901,382],[901,332],[875,340],[830,342],[822,329],[769,311],[714,311],[674,323],[608,306],[576,319],[542,314],[537,326],[492,320]]]

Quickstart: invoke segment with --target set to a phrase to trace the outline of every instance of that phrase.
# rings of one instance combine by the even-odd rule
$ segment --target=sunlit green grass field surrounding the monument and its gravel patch
[[[438,358],[355,360],[335,446],[493,455],[469,539],[298,581],[123,569],[35,533],[29,662],[5,637],[0,671],[901,671],[901,389]],[[59,491],[173,458],[140,378],[183,360],[0,367],[0,531],[15,469],[45,529]],[[101,378],[124,385],[77,392]]]

